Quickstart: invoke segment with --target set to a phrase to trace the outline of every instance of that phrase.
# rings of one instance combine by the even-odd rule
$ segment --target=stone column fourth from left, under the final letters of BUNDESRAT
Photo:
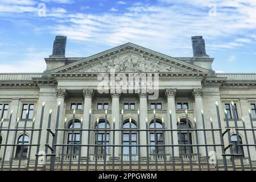
[[[139,94],[139,111],[140,111],[139,113],[140,127],[142,130],[146,130],[146,118],[147,118],[147,94],[146,93]],[[149,143],[149,137],[150,135],[148,134],[148,143]],[[141,140],[141,145],[147,144],[146,131],[141,131],[140,140]],[[148,154],[150,154],[149,151],[150,150],[148,148]],[[141,147],[141,159],[142,160],[147,159],[146,147]]]

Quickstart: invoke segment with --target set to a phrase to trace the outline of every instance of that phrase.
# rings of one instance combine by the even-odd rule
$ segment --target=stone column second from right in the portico
[[[169,130],[171,129],[170,113],[169,113],[169,111],[171,110],[171,112],[172,112],[172,129],[177,130],[176,105],[175,105],[176,89],[166,89],[165,93],[166,93],[167,103],[168,103],[167,104],[167,115],[168,115],[167,118],[168,118],[168,121],[166,121],[167,129],[169,129]],[[171,141],[170,131],[168,131],[168,135],[170,136],[169,141]],[[175,145],[179,144],[177,131],[173,131],[172,135],[173,135],[174,144]],[[179,158],[179,147],[174,147],[174,154],[172,154],[172,157]]]

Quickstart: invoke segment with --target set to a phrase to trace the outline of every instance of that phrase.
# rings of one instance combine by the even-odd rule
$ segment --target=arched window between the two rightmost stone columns
[[[191,125],[188,122],[188,128],[191,129]],[[177,129],[187,129],[187,122],[185,119],[180,119],[180,123],[177,123]],[[183,130],[183,131],[178,131],[178,139],[179,139],[179,144],[187,145],[187,144],[192,144],[192,134],[191,131]],[[189,151],[190,148],[190,151]],[[182,150],[182,154],[193,154],[193,147],[190,146],[182,146],[180,148]],[[181,154],[181,151],[180,151]]]

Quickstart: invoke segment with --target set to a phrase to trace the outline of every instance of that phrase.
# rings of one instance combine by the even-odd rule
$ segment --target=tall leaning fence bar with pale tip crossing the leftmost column
[[[55,135],[53,136],[53,139],[52,139],[52,155],[51,155],[50,171],[54,171],[54,169],[55,169],[56,142],[57,142],[57,134],[58,134],[58,129],[59,129],[59,119],[60,119],[60,102],[57,107]]]

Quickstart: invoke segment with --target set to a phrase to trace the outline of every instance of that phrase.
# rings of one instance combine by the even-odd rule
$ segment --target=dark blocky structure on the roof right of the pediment
[[[205,51],[203,36],[192,36],[193,57],[209,57]]]

